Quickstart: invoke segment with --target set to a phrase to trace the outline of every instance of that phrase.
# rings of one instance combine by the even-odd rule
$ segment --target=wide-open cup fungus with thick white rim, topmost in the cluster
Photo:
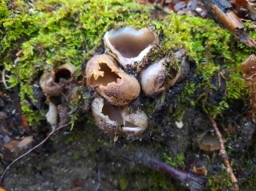
[[[126,26],[110,30],[104,35],[106,52],[116,58],[125,69],[132,67],[140,72],[148,62],[148,55],[159,44],[157,34],[144,28]]]

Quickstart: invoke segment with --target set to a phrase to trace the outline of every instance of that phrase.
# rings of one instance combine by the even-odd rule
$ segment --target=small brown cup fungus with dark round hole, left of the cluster
[[[68,82],[73,80],[76,67],[64,64],[51,72],[45,71],[40,78],[40,86],[48,96],[61,96]]]

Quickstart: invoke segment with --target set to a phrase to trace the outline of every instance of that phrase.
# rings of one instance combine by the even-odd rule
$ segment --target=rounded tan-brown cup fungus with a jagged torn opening
[[[112,105],[127,105],[140,94],[137,79],[120,70],[107,54],[96,55],[87,62],[85,77],[87,86],[95,89]]]

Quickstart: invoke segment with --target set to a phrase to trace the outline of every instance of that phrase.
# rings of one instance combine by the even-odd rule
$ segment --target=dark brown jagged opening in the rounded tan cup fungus
[[[104,72],[104,76],[100,76],[96,80],[95,78],[91,78],[90,83],[92,86],[100,84],[103,86],[107,86],[108,83],[117,82],[117,79],[120,78],[120,76],[112,72],[111,68],[109,68],[108,65],[105,63],[100,63],[100,71]]]

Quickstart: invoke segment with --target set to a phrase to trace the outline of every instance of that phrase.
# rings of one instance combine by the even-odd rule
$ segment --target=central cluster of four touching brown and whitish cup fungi
[[[154,97],[185,78],[189,70],[185,50],[175,52],[171,56],[175,59],[161,58],[149,65],[159,46],[158,35],[150,28],[129,26],[108,31],[104,46],[105,54],[92,57],[84,71],[87,86],[100,94],[91,103],[96,125],[108,133],[140,134],[148,126],[148,117],[131,102],[141,90]],[[173,60],[178,60],[177,65]]]

